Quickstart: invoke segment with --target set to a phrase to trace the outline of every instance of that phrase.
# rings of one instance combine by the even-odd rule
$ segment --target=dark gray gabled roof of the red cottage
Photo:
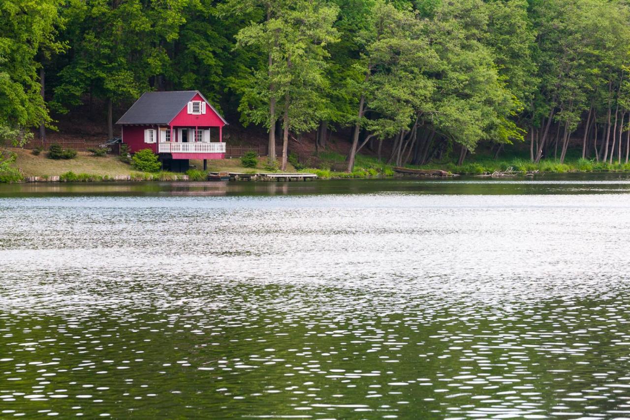
[[[199,93],[196,90],[145,92],[116,124],[168,124]],[[201,95],[201,93],[199,93]],[[201,95],[203,98],[203,95]],[[203,98],[205,100],[205,98]],[[208,102],[205,100],[205,102]],[[210,103],[208,103],[210,105]],[[219,115],[217,110],[210,108]],[[226,120],[219,118],[227,124]]]

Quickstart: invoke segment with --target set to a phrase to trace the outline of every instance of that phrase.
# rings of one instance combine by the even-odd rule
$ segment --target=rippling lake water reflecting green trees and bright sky
[[[0,417],[630,417],[629,193],[0,185]]]

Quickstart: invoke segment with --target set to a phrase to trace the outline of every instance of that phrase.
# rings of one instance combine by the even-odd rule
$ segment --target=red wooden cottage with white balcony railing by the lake
[[[117,121],[122,142],[135,153],[151,149],[163,167],[185,171],[190,159],[223,159],[226,120],[197,90],[146,92]]]

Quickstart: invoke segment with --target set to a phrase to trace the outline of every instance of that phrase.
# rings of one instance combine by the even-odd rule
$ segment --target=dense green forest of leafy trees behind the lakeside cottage
[[[282,168],[291,136],[331,131],[348,171],[366,146],[398,166],[519,143],[628,161],[624,0],[3,0],[0,23],[4,145],[88,101],[112,137],[142,92],[200,90]]]

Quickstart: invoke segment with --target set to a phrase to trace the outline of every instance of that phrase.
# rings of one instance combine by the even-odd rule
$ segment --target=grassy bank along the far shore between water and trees
[[[79,152],[76,158],[69,160],[52,160],[45,156],[33,155],[28,149],[11,149],[16,155],[13,163],[15,168],[19,168],[24,177],[49,178],[59,176],[60,180],[66,182],[81,181],[108,181],[115,177],[127,177],[131,180],[182,180],[182,174],[171,172],[143,173],[137,172],[132,166],[118,160],[117,156],[96,157],[91,153]],[[316,173],[322,179],[335,178],[372,178],[391,177],[394,175],[392,165],[379,161],[374,156],[357,155],[355,169],[353,172],[335,172],[331,166],[342,168],[345,156],[339,153],[325,152],[318,156],[323,163],[321,168],[307,168],[294,161],[294,165],[287,167],[286,172],[311,172]],[[192,170],[188,175],[189,180],[204,180],[205,172],[203,161],[191,160]],[[328,167],[327,167],[328,166]],[[416,169],[440,169],[459,175],[481,175],[493,172],[503,172],[512,168],[515,172],[522,173],[570,173],[570,172],[630,172],[630,164],[604,163],[594,160],[570,158],[564,163],[558,160],[543,160],[540,163],[532,163],[529,158],[520,156],[508,156],[501,160],[494,160],[489,156],[471,156],[464,165],[456,165],[453,162],[430,163],[428,165],[414,166]],[[265,158],[260,158],[256,168],[246,168],[238,158],[211,160],[208,161],[209,172],[240,172],[240,173],[260,173],[260,172],[280,172],[277,168],[270,167]]]

